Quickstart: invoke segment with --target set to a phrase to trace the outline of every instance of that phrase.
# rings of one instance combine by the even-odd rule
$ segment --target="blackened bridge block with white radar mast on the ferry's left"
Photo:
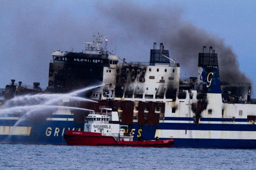
[[[94,37],[93,43],[84,43],[85,49],[81,53],[60,49],[52,53],[48,82],[50,92],[68,92],[102,82],[103,68],[112,65],[109,58],[115,56],[107,51],[107,39],[104,39],[105,47],[102,47],[103,36],[98,33]]]

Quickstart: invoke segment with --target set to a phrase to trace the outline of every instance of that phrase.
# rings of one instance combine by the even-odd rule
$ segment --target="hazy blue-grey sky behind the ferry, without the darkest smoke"
[[[116,54],[128,61],[148,61],[153,42],[158,45],[164,42],[172,58],[183,64],[181,77],[196,76],[197,61],[186,63],[178,57],[178,47],[186,40],[175,40],[179,36],[174,36],[174,32],[184,25],[192,25],[188,30],[193,33],[185,29],[186,37],[190,35],[193,39],[191,35],[198,36],[202,32],[202,37],[210,37],[210,42],[215,43],[213,47],[223,45],[224,52],[230,50],[237,56],[240,70],[255,84],[255,1],[121,2],[0,1],[0,87],[16,79],[25,84],[40,82],[45,88],[52,51],[57,48],[82,51],[83,42],[92,41],[92,33],[97,32],[107,35],[112,42],[111,49],[116,46]],[[134,10],[139,11],[138,15]],[[186,46],[198,48],[194,50],[198,53],[202,44]],[[197,60],[197,56],[195,58]],[[234,70],[236,75],[239,68],[230,69],[227,63],[225,69],[230,74]],[[220,70],[225,74],[224,68]]]

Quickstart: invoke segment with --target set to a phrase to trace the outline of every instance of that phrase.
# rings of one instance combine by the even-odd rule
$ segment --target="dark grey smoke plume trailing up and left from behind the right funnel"
[[[128,37],[144,36],[144,41],[150,39],[152,42],[163,42],[164,48],[170,50],[171,58],[176,58],[182,69],[193,73],[190,76],[197,75],[198,53],[202,53],[202,47],[212,46],[218,53],[221,81],[251,82],[239,70],[237,56],[232,47],[226,45],[223,39],[182,20],[180,8],[162,4],[144,8],[132,3],[116,3],[107,6],[108,8],[104,4],[98,6],[102,16],[118,23]]]

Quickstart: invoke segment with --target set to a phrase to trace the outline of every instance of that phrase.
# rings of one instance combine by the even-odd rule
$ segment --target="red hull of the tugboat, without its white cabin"
[[[116,141],[114,137],[102,136],[100,133],[70,130],[64,134],[64,139],[68,145],[82,146],[171,148],[174,144],[173,139],[159,141]]]

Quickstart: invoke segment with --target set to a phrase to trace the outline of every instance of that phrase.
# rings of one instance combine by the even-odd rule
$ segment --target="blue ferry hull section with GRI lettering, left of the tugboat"
[[[70,115],[71,116],[71,115]],[[0,143],[66,145],[63,138],[68,129],[83,130],[84,123],[72,121],[69,115],[53,115],[54,120],[23,120],[18,117],[1,117]],[[71,119],[70,121],[67,121]]]

